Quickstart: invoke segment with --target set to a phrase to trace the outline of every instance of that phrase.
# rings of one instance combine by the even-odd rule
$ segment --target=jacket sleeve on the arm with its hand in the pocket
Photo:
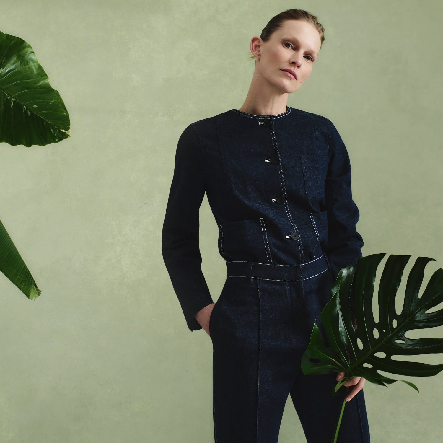
[[[204,194],[202,148],[191,124],[177,144],[162,230],[163,260],[191,331],[202,329],[194,315],[213,303],[202,273],[198,245],[199,209]]]

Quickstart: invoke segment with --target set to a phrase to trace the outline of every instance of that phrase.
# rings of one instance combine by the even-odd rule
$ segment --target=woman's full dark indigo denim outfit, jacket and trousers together
[[[190,330],[213,303],[201,270],[204,193],[227,275],[210,317],[216,443],[276,443],[288,395],[308,443],[329,443],[344,388],[305,376],[300,359],[338,271],[356,263],[349,156],[325,117],[287,107],[232,109],[180,136],[162,233],[163,258]],[[346,404],[338,442],[369,443],[363,391]]]

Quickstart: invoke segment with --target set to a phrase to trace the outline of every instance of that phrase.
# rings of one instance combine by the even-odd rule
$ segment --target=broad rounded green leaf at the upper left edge
[[[44,146],[70,136],[62,97],[31,46],[0,32],[0,142]]]

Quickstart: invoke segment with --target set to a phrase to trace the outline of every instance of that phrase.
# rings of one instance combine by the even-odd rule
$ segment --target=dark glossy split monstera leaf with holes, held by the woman
[[[397,314],[397,291],[411,256],[390,255],[378,287],[379,320],[376,322],[372,309],[375,276],[385,255],[361,257],[357,264],[340,270],[331,287],[331,299],[321,313],[327,346],[315,324],[309,346],[303,354],[301,366],[305,374],[346,372],[346,377],[335,386],[334,393],[347,379],[356,376],[384,386],[397,381],[377,371],[427,377],[443,369],[443,364],[428,365],[392,358],[443,352],[443,339],[405,337],[408,330],[443,325],[443,308],[427,312],[443,302],[443,269],[432,274],[419,298],[424,268],[434,259],[418,257],[408,275],[402,311]],[[350,310],[351,294],[357,329],[354,329]],[[404,382],[417,389],[413,383]]]

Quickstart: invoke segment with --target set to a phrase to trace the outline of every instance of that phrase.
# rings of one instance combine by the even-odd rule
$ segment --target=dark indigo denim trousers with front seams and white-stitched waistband
[[[216,443],[276,443],[288,395],[308,443],[330,443],[344,390],[336,373],[300,368],[314,325],[330,299],[324,256],[302,265],[226,263],[210,317]],[[339,443],[369,443],[363,391],[346,403]]]

